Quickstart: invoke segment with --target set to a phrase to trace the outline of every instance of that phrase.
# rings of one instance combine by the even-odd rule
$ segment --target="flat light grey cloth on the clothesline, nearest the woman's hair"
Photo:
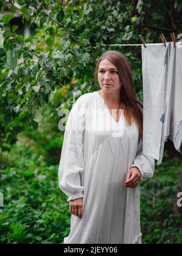
[[[167,48],[163,43],[142,46],[143,153],[157,160],[163,153],[160,151],[163,129],[160,119],[164,109],[166,65]]]

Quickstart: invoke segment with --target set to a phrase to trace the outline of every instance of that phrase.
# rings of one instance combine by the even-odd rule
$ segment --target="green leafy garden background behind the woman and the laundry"
[[[98,90],[93,74],[104,51],[129,58],[143,100],[141,47],[103,44],[138,44],[140,35],[160,43],[162,33],[171,41],[181,28],[180,0],[0,0],[0,243],[62,243],[69,234],[58,124],[81,94]],[[182,243],[181,171],[169,141],[155,176],[141,183],[143,243]]]

